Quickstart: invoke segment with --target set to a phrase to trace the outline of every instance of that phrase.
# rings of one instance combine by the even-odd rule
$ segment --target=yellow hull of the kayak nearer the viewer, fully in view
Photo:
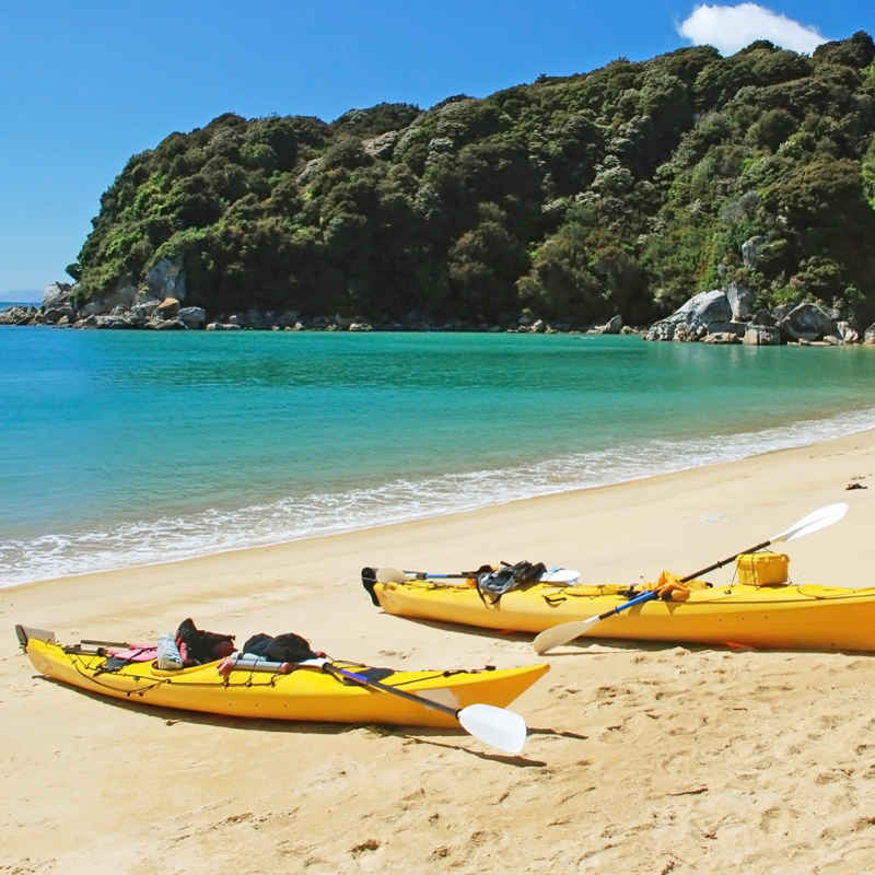
[[[79,645],[61,646],[50,632],[40,630],[42,635],[34,637],[32,630],[25,631],[31,637],[23,646],[37,672],[113,699],[233,718],[458,726],[452,714],[348,685],[318,668],[295,668],[290,674],[234,668],[225,678],[218,672],[218,662],[173,672],[144,662],[109,672],[105,654],[85,652]],[[346,662],[336,665],[350,672],[366,669]],[[456,710],[477,703],[503,708],[548,669],[541,663],[505,669],[394,672],[381,682]]]

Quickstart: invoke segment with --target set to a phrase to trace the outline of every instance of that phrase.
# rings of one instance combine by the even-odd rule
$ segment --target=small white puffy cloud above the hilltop
[[[693,45],[714,46],[721,55],[734,55],[757,39],[809,55],[827,42],[816,27],[802,25],[756,3],[735,7],[703,3],[696,7],[677,31]]]

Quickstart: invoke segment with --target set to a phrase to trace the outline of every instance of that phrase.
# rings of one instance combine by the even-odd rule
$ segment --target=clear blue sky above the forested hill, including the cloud
[[[810,52],[875,35],[872,0],[0,0],[0,300],[69,282],[127,160],[222,113],[331,121],[700,43]]]

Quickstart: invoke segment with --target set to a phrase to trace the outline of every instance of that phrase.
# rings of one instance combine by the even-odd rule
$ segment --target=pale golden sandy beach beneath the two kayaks
[[[849,483],[865,489],[848,490]],[[149,709],[38,676],[16,622],[151,640],[186,617],[396,668],[538,662],[530,638],[383,614],[362,565],[545,561],[678,574],[825,504],[795,582],[873,585],[875,432],[603,489],[0,590],[0,873],[858,873],[875,870],[875,660],[634,645],[550,653],[520,756],[463,731]],[[708,575],[727,583],[732,567]]]

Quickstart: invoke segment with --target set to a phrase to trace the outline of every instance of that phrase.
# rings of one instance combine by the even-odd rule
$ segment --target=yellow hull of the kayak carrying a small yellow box
[[[387,614],[517,632],[585,620],[628,600],[628,586],[537,583],[485,604],[465,583],[376,583]],[[591,638],[742,644],[813,651],[875,651],[875,588],[817,585],[715,586],[687,602],[653,599],[593,623]]]

